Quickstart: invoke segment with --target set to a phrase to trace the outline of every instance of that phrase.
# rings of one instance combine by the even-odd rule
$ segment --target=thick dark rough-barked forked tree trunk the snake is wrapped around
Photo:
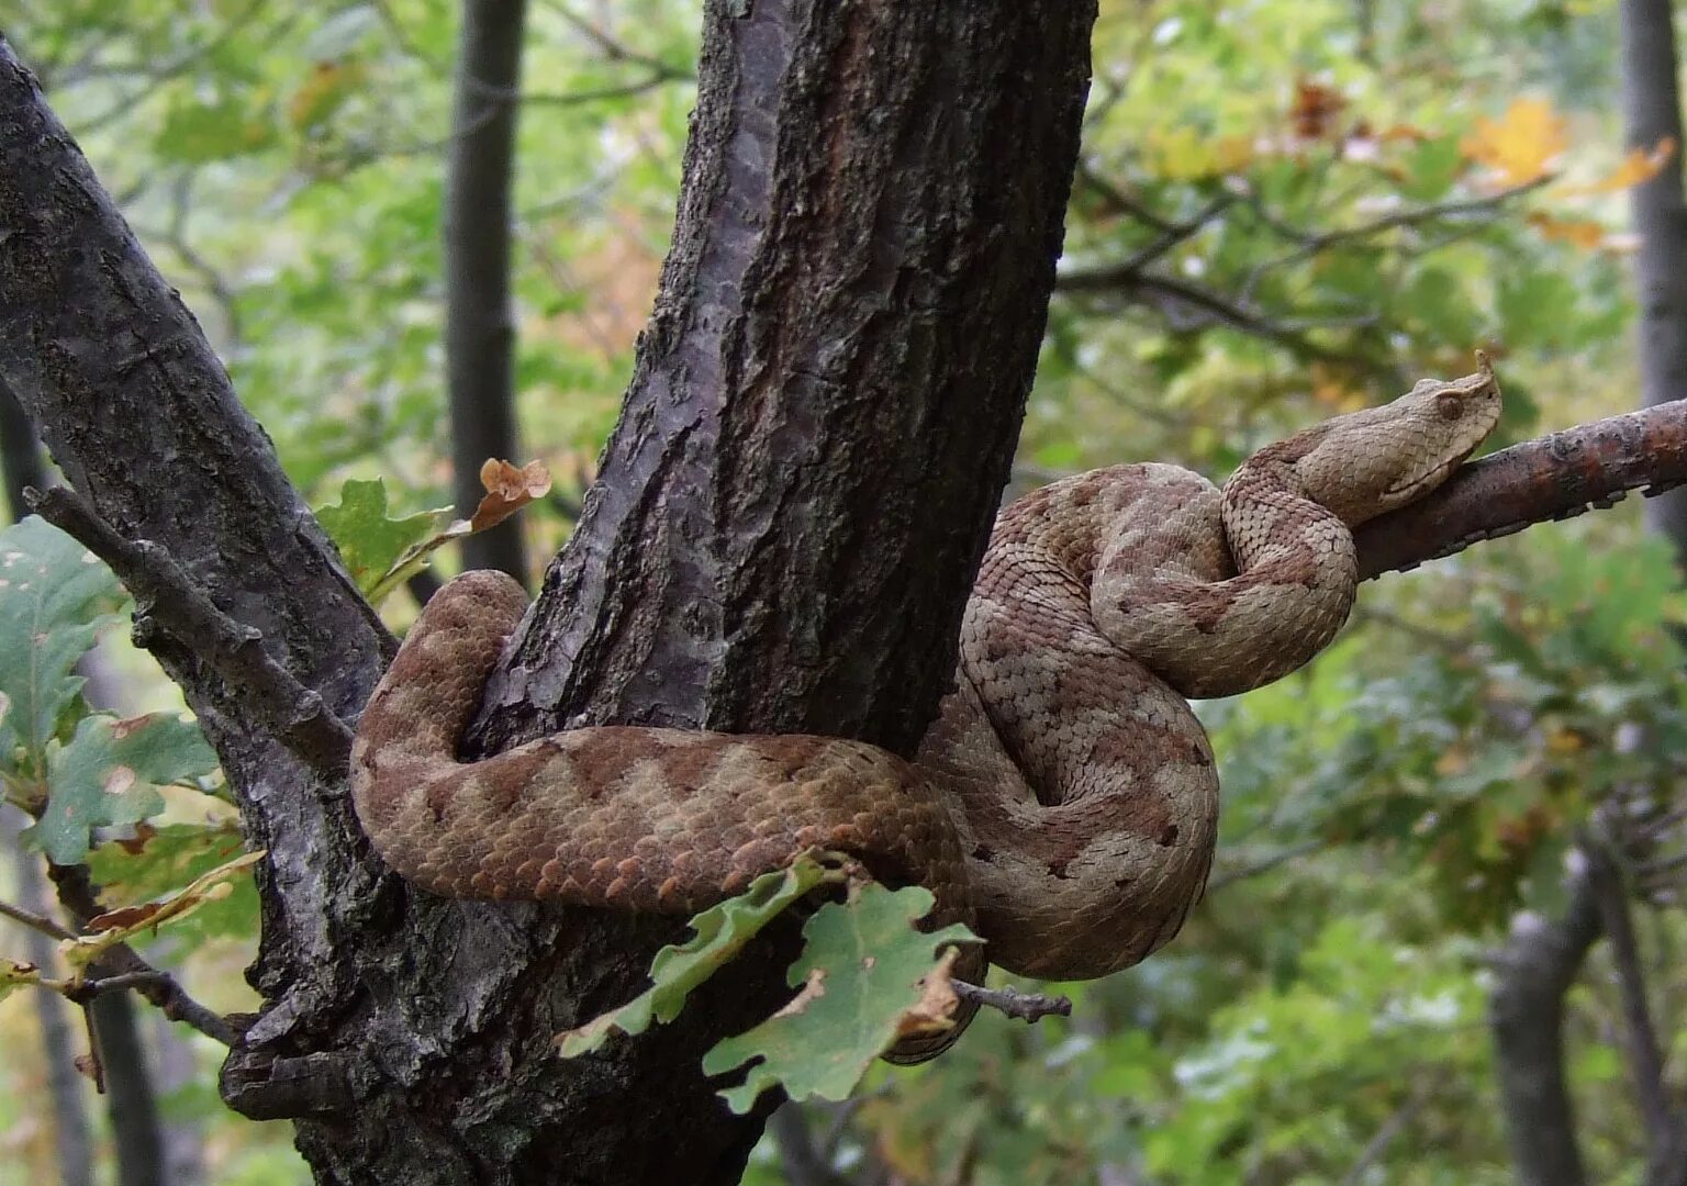
[[[709,5],[658,310],[515,658],[533,702],[508,682],[493,702],[499,741],[584,705],[913,751],[1031,385],[1093,15]],[[385,633],[8,57],[0,159],[0,375],[105,518],[354,715]],[[552,1032],[631,995],[676,928],[412,891],[371,860],[341,784],[310,779],[189,644],[148,641],[270,852],[267,1009],[224,1068],[234,1107],[295,1117],[321,1181],[737,1179],[761,1119],[730,1117],[698,1058],[783,994],[766,948],[678,1024],[562,1063]]]

